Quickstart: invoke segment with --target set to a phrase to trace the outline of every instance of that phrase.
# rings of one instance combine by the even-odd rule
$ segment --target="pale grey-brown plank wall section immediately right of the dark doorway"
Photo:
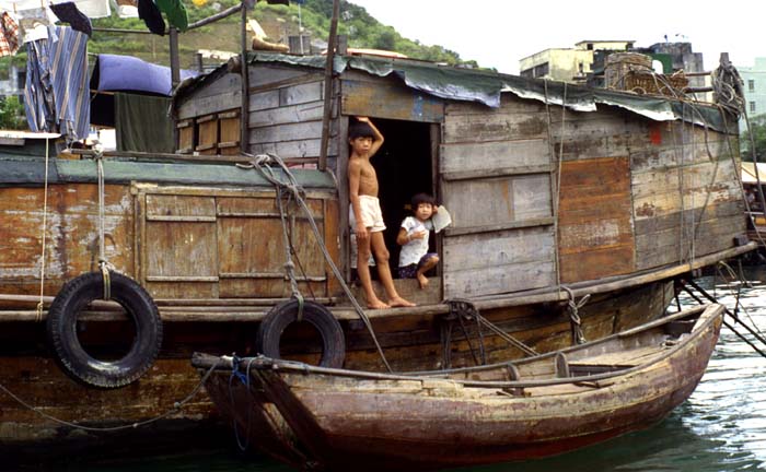
[[[555,284],[545,107],[509,94],[499,109],[449,104],[442,131],[441,194],[453,219],[444,296]]]

